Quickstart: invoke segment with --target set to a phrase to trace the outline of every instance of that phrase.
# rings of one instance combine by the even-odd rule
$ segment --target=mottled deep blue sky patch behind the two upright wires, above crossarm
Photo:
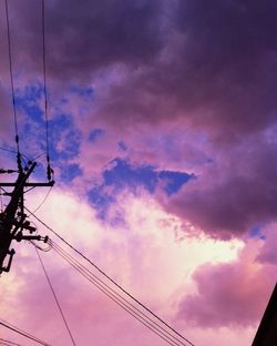
[[[73,89],[72,92],[80,96],[90,96],[92,89]],[[40,83],[29,84],[22,89],[17,89],[16,105],[20,112],[20,145],[22,154],[30,159],[40,156],[39,165],[35,169],[35,176],[43,176],[45,171],[45,113],[44,113],[44,91]],[[65,99],[63,100],[65,102]],[[53,112],[53,110],[52,110]],[[22,116],[23,115],[23,116]],[[80,167],[69,164],[69,160],[74,159],[80,152],[81,133],[75,128],[70,113],[54,112],[54,116],[49,120],[49,150],[53,166],[61,171],[63,182],[70,182],[76,175],[82,174]],[[44,153],[44,155],[43,155]]]

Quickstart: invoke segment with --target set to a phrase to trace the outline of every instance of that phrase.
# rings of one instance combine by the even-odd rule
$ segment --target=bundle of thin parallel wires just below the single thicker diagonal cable
[[[176,336],[166,330],[163,326],[153,320],[150,316],[140,311],[136,306],[125,299],[122,295],[115,292],[112,287],[105,284],[95,274],[90,272],[86,267],[80,264],[65,251],[63,251],[58,244],[51,241],[53,250],[61,255],[70,265],[72,265],[81,275],[83,275],[88,281],[90,281],[94,286],[96,286],[102,293],[109,296],[114,303],[120,305],[125,312],[132,315],[135,319],[141,322],[145,327],[151,329],[153,333],[163,338],[166,343],[172,346],[185,345]]]

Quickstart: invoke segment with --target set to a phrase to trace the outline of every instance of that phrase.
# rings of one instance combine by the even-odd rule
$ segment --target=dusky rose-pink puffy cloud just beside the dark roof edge
[[[246,243],[235,262],[197,268],[197,293],[183,298],[178,317],[205,328],[256,326],[276,279],[276,267],[255,260],[260,247],[256,243]]]

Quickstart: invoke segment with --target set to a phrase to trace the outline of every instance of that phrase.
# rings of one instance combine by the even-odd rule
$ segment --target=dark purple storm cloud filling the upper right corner
[[[276,18],[275,1],[179,1],[167,32],[167,59],[116,85],[100,113],[109,121],[116,113],[117,124],[129,114],[154,124],[189,121],[218,130],[222,140],[271,124]]]

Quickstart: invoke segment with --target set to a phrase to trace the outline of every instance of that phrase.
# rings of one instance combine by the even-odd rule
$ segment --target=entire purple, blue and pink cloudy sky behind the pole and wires
[[[19,145],[43,182],[41,1],[8,4]],[[25,205],[197,346],[250,345],[276,283],[276,17],[274,0],[45,0],[55,185]],[[16,169],[3,0],[0,108],[0,164]],[[71,345],[32,244],[13,246],[0,319]],[[76,345],[166,345],[54,250],[41,257]]]

